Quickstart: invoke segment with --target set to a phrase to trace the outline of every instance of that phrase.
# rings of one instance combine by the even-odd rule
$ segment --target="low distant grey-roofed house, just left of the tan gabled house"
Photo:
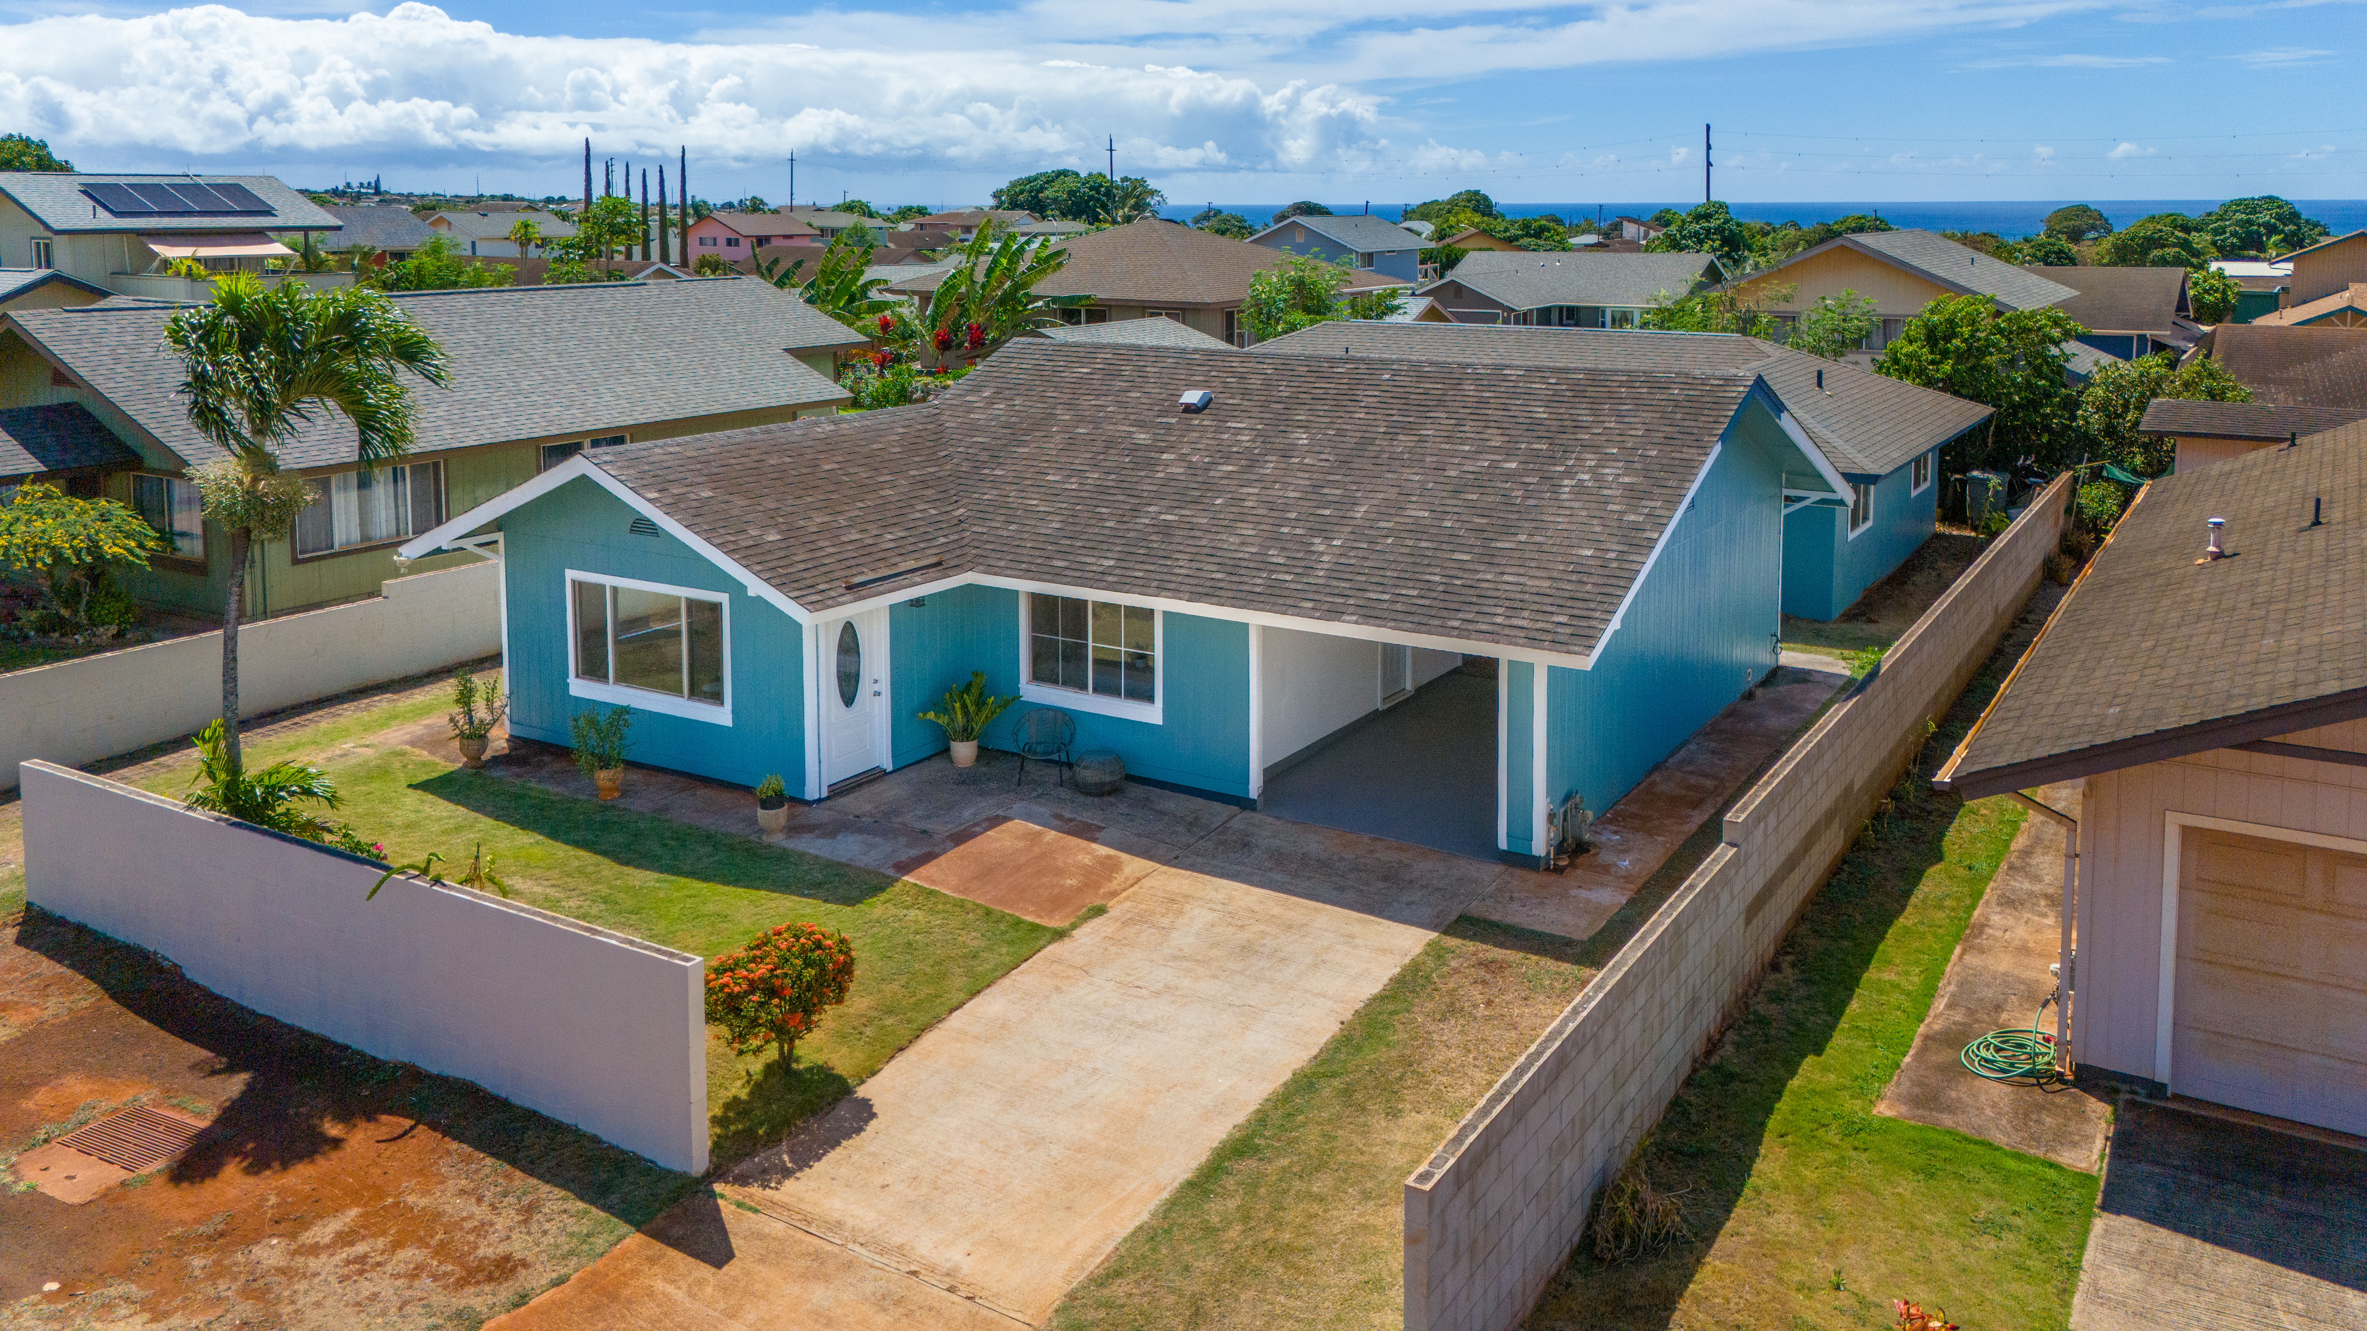
[[[1631,329],[1664,296],[1723,277],[1709,253],[1479,251],[1420,287],[1458,324]]]

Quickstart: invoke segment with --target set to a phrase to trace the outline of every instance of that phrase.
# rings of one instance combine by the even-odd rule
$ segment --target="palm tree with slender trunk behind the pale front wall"
[[[256,538],[277,540],[315,500],[312,486],[282,474],[277,450],[320,410],[353,422],[362,467],[393,462],[412,445],[414,405],[402,372],[438,388],[450,381],[445,353],[393,301],[367,287],[308,291],[301,282],[265,287],[251,272],[225,272],[211,306],[166,322],[166,346],[180,358],[180,393],[189,424],[227,457],[189,474],[206,519],[230,533],[230,587],[222,594],[222,729],[230,772],[239,758],[239,609],[246,554]]]

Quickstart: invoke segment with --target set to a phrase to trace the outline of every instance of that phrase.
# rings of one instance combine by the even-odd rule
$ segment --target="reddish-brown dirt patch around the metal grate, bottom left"
[[[0,985],[31,1011],[0,1035],[0,1165],[128,1104],[206,1120],[180,1158],[83,1205],[7,1179],[9,1326],[473,1326],[689,1184],[43,912],[0,921]]]

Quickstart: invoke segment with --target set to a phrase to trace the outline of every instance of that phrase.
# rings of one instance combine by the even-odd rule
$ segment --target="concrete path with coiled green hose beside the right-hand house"
[[[2038,800],[2078,817],[2081,782],[2045,786]],[[1991,1030],[2029,1028],[2036,1018],[2040,1030],[2055,1033],[2055,1009],[2040,1018],[2038,1004],[2055,992],[2047,966],[2062,957],[2062,824],[2031,815],[1972,912],[1931,1011],[1875,1113],[1955,1127],[2095,1172],[2111,1130],[2111,1106],[2097,1092],[1991,1082],[1962,1061],[1965,1044]]]

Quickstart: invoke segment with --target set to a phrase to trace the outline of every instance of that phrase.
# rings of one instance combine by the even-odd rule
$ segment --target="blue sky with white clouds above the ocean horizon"
[[[0,130],[85,168],[975,201],[1051,166],[1172,199],[2367,194],[2355,2],[0,0]]]

